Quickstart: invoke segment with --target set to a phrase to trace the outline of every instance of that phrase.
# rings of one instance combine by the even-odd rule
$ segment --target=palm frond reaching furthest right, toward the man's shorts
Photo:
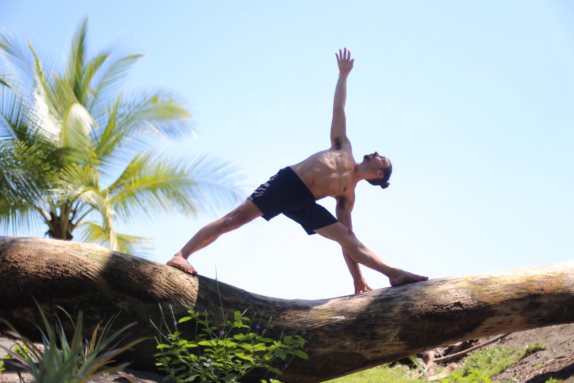
[[[240,202],[236,178],[234,168],[213,157],[182,162],[148,152],[136,156],[106,192],[125,222],[153,214],[196,216]]]

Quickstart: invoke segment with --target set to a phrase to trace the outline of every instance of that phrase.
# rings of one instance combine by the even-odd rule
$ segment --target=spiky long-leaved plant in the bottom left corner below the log
[[[4,346],[0,346],[0,348],[10,355],[11,363],[32,374],[37,383],[87,383],[104,376],[104,374],[115,374],[123,369],[127,363],[119,366],[107,366],[108,363],[113,362],[112,359],[118,354],[144,340],[138,339],[126,346],[115,348],[119,343],[119,341],[117,342],[118,336],[133,326],[130,324],[114,332],[114,334],[108,335],[117,316],[115,315],[106,323],[99,336],[100,324],[98,324],[88,341],[82,336],[83,315],[80,311],[76,323],[73,323],[70,318],[74,332],[72,339],[68,342],[60,319],[56,316],[57,323],[51,324],[40,305],[38,305],[38,309],[45,329],[42,330],[38,326],[42,337],[42,349],[34,345],[25,336],[20,335],[10,323],[0,319],[11,330],[6,334],[21,343],[17,346],[18,351],[9,350]],[[65,314],[68,315],[68,313]]]

